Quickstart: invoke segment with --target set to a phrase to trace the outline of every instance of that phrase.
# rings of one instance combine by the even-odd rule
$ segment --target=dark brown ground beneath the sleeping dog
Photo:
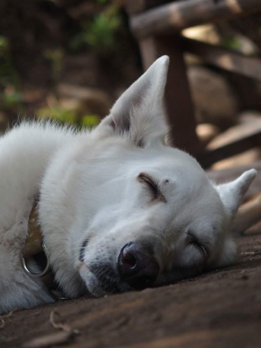
[[[239,237],[239,246],[235,266],[198,278],[17,311],[3,318],[0,347],[52,342],[54,309],[56,322],[79,329],[60,347],[261,347],[261,235]]]

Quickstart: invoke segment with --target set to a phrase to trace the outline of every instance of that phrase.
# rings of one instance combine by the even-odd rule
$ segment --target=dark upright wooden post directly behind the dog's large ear
[[[167,122],[171,125],[171,140],[175,147],[196,155],[201,147],[196,135],[196,121],[180,37],[153,36],[139,40],[139,45],[145,69],[159,56],[170,56],[165,100]]]

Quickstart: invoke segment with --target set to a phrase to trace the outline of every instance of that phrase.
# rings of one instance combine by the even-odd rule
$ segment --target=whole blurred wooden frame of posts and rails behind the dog
[[[158,56],[168,54],[171,57],[165,98],[168,122],[173,125],[173,145],[187,150],[204,167],[261,145],[259,130],[220,148],[203,150],[196,135],[196,120],[183,54],[191,52],[211,65],[259,80],[261,59],[180,35],[182,29],[191,26],[258,13],[261,11],[261,0],[125,0],[125,8],[132,32],[139,42],[144,68],[148,68]],[[257,33],[260,33],[259,30],[257,27]]]

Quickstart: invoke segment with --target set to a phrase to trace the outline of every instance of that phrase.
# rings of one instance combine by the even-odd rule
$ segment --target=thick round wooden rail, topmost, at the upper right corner
[[[131,17],[134,35],[173,33],[208,22],[232,19],[261,10],[260,0],[182,0]]]

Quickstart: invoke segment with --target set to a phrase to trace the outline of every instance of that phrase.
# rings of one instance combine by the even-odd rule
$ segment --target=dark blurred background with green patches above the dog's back
[[[141,74],[122,1],[0,1],[1,130],[17,118],[91,126]]]

